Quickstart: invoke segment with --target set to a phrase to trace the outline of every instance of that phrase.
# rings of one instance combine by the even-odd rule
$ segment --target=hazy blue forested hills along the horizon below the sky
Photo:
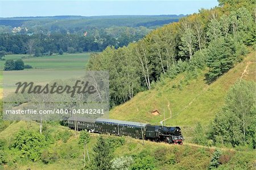
[[[41,28],[52,31],[65,28],[75,31],[80,28],[106,28],[112,26],[156,27],[177,22],[184,15],[111,15],[111,16],[30,16],[0,18],[0,26]],[[36,30],[36,29],[35,29]]]

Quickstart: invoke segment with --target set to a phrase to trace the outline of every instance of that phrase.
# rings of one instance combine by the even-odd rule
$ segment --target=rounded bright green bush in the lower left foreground
[[[44,135],[39,132],[20,130],[15,135],[13,147],[18,150],[20,157],[30,160],[38,160],[43,152],[43,148],[47,146]]]

